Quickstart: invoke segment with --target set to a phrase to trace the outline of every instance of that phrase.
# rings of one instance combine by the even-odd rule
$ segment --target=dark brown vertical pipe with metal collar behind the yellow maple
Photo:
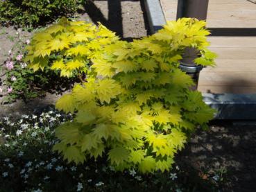
[[[209,0],[178,0],[177,19],[181,17],[191,17],[198,20],[206,20]],[[202,66],[196,65],[194,59],[198,58],[198,51],[193,48],[185,49],[183,59],[180,62],[180,69],[194,79],[196,87],[199,73]]]

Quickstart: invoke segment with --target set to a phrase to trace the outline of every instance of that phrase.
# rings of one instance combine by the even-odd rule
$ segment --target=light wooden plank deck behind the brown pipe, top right
[[[178,0],[160,0],[167,20],[176,19]],[[256,3],[256,0],[255,0]],[[247,0],[210,0],[208,28],[256,28],[256,4]],[[215,94],[256,93],[255,36],[209,37],[210,49],[219,55],[216,67],[200,72],[198,90]]]

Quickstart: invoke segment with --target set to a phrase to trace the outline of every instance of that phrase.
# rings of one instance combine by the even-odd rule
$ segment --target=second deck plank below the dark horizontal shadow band
[[[256,60],[256,48],[212,47],[210,50],[217,53],[218,59]]]

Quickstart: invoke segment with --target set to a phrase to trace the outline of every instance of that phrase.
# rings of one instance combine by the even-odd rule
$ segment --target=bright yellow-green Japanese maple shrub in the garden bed
[[[190,89],[193,80],[178,69],[187,47],[198,49],[197,64],[214,65],[209,34],[205,21],[183,18],[133,42],[82,21],[62,20],[35,35],[31,67],[87,74],[56,103],[76,117],[56,129],[60,142],[54,150],[77,164],[106,155],[117,170],[169,171],[187,133],[214,115],[200,92]]]

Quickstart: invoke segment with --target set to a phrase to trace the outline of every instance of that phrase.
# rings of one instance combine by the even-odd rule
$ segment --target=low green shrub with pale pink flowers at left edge
[[[19,33],[12,36],[15,45],[8,53],[8,58],[3,64],[3,85],[0,86],[0,95],[3,103],[10,103],[16,99],[25,102],[33,98],[45,96],[47,92],[61,93],[70,89],[76,78],[60,77],[58,71],[49,68],[44,71],[36,71],[27,67],[24,58],[27,52],[25,46],[30,44],[29,39],[24,39]],[[55,82],[55,83],[52,83]]]

